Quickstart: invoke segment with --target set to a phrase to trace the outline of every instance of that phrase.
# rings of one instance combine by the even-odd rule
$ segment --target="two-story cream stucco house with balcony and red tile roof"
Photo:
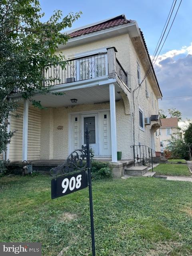
[[[96,158],[115,163],[121,151],[122,159],[133,159],[134,144],[160,151],[155,132],[160,127],[162,93],[153,68],[140,85],[151,60],[136,21],[120,15],[68,33],[67,44],[58,47],[68,58],[66,70],[57,66],[45,72],[58,78],[51,90],[64,95],[36,94],[43,110],[23,102],[17,110],[22,118],[10,119],[9,129],[16,133],[6,158],[66,159],[85,144],[86,123]]]

